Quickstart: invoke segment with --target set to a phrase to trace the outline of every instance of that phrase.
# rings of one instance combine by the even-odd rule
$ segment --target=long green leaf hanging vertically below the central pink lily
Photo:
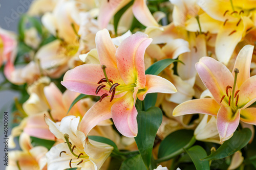
[[[147,169],[151,163],[153,145],[162,118],[162,111],[158,107],[152,107],[147,111],[138,110],[138,135],[135,141]]]

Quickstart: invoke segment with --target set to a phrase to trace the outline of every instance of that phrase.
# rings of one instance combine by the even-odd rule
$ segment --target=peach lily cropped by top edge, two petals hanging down
[[[113,15],[128,4],[131,0],[110,0],[102,1],[98,16],[99,27],[106,28]],[[133,4],[133,14],[144,26],[156,26],[158,23],[146,6],[146,0],[135,0]]]

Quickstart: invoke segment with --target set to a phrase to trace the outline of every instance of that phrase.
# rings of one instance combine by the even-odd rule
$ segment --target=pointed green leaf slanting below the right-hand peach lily
[[[251,138],[251,130],[244,128],[240,131],[234,132],[233,136],[225,141],[218,150],[203,160],[217,160],[228,157],[235,152],[244,148]]]

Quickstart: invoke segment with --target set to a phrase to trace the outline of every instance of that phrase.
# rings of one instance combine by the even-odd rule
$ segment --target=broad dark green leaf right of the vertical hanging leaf
[[[158,160],[162,162],[174,158],[184,152],[183,148],[191,147],[196,141],[192,130],[178,130],[163,139],[159,146]]]

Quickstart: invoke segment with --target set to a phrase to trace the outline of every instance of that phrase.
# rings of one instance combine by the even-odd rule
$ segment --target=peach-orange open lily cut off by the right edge
[[[244,46],[237,56],[232,73],[213,58],[201,58],[196,69],[214,99],[184,102],[174,109],[173,115],[203,113],[217,116],[221,142],[232,136],[239,120],[256,125],[256,108],[248,108],[256,101],[256,76],[250,77],[252,53],[252,45]]]

